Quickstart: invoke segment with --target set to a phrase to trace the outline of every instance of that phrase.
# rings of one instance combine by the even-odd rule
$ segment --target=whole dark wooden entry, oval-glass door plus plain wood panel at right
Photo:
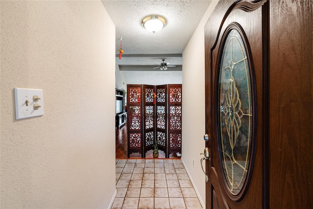
[[[313,208],[312,2],[220,0],[205,25],[207,209]]]

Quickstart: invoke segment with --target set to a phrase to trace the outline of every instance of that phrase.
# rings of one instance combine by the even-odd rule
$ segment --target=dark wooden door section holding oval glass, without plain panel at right
[[[206,207],[262,208],[266,1],[222,0],[206,24]]]

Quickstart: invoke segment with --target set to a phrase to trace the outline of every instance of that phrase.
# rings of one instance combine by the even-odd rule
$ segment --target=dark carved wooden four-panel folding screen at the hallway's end
[[[145,158],[154,143],[166,158],[181,153],[181,90],[181,84],[127,85],[128,157]]]

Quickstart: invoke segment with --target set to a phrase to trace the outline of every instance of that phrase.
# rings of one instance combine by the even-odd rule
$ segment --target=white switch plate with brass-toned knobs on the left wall
[[[15,113],[16,119],[44,115],[44,93],[41,89],[15,88]],[[33,98],[38,96],[40,99]],[[34,101],[35,100],[35,101]],[[34,107],[38,110],[35,110]],[[39,107],[40,106],[40,107]]]

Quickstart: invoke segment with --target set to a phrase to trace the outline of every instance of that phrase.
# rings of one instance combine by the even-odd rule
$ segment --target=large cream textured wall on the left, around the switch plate
[[[101,1],[0,1],[0,208],[108,208],[115,26]],[[45,115],[16,120],[14,88]]]

